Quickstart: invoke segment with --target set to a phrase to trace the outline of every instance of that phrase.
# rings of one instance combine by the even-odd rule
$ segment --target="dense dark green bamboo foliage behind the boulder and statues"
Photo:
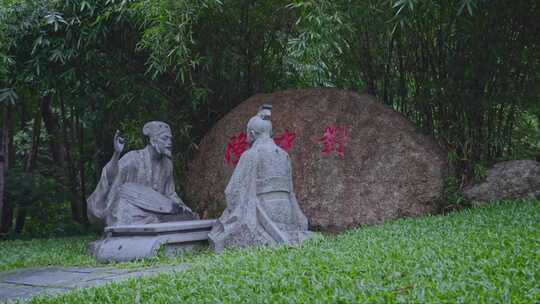
[[[174,130],[181,187],[205,132],[258,92],[375,94],[450,151],[458,186],[536,157],[539,15],[535,0],[1,0],[0,231],[86,224],[114,130],[140,148],[152,119]]]

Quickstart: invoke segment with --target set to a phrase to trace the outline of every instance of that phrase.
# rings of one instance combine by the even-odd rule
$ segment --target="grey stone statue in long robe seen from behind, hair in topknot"
[[[250,148],[225,190],[227,208],[208,235],[220,252],[227,247],[299,244],[310,235],[292,184],[289,155],[272,139],[271,106],[247,125]]]

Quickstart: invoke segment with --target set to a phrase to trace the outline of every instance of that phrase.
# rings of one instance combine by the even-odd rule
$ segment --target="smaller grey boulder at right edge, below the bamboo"
[[[487,171],[483,182],[466,187],[463,194],[466,199],[476,202],[535,197],[540,194],[540,162],[513,160],[498,163]]]

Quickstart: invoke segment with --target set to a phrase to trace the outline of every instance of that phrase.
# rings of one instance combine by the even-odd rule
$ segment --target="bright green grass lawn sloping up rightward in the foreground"
[[[298,248],[233,250],[190,262],[184,272],[32,303],[540,303],[540,202],[393,221]]]

